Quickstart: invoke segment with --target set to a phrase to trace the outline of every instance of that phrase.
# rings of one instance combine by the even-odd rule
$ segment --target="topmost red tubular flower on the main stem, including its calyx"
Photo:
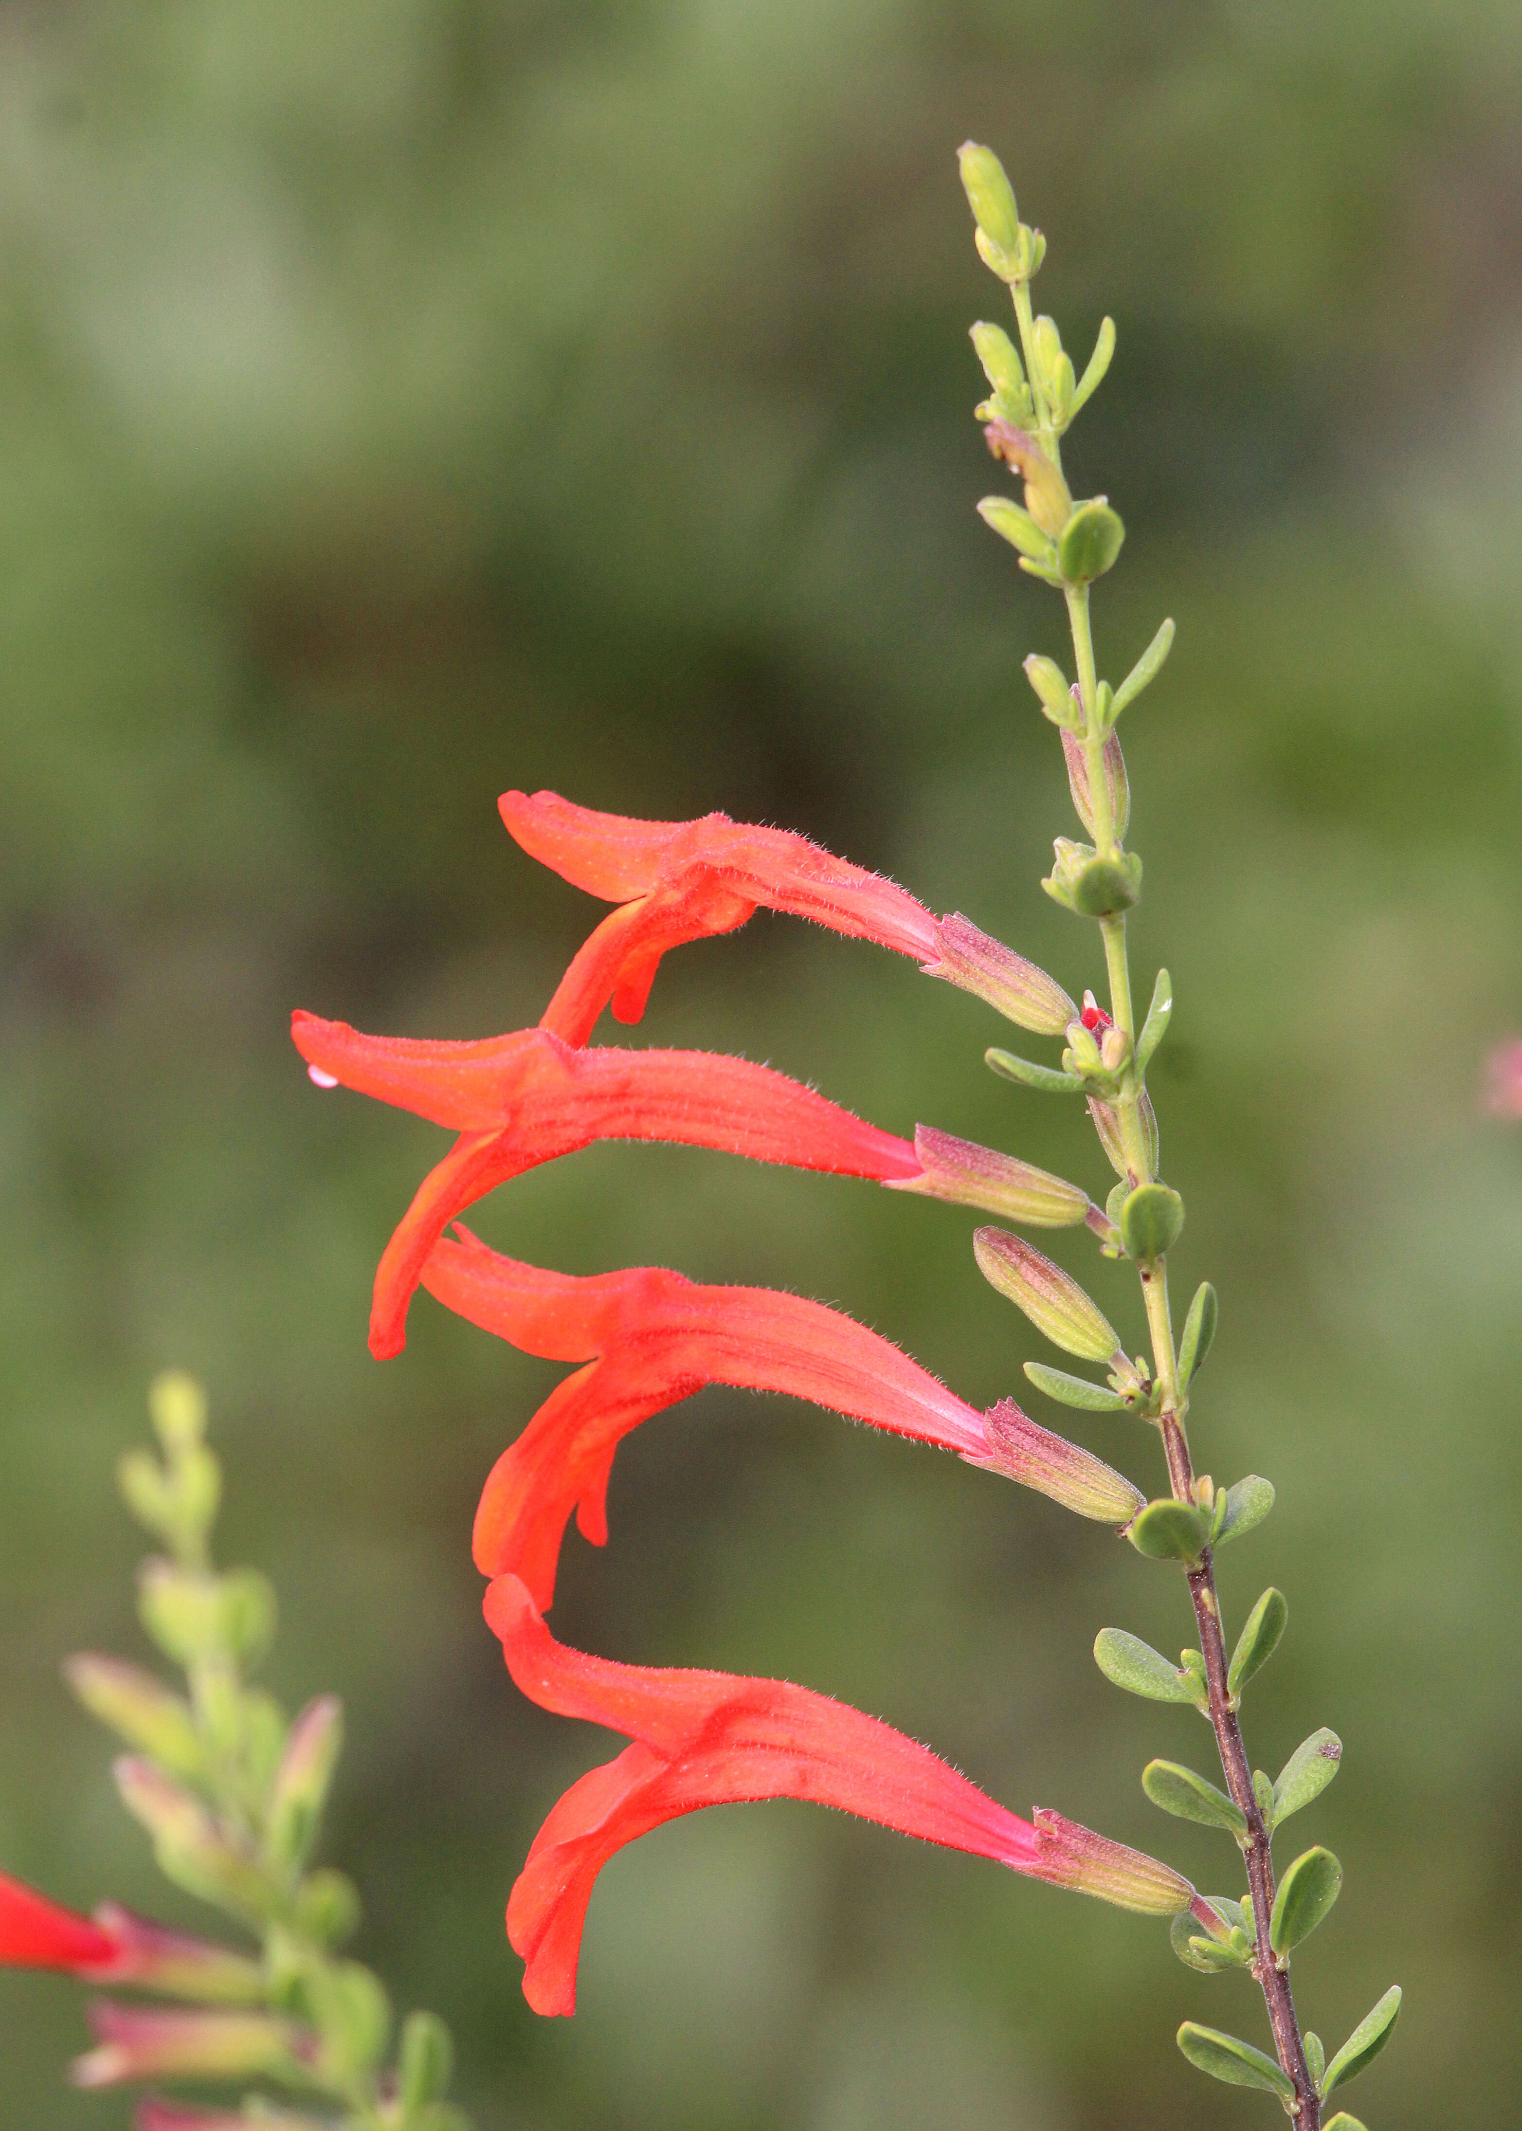
[[[912,955],[1021,1027],[1059,1036],[1072,1021],[1072,999],[1034,963],[961,916],[934,918],[906,889],[787,829],[727,814],[633,820],[558,793],[503,793],[499,808],[529,857],[622,906],[582,946],[539,1023],[569,1044],[586,1042],[610,1002],[614,1021],[639,1021],[669,948],[735,931],[761,908]]]

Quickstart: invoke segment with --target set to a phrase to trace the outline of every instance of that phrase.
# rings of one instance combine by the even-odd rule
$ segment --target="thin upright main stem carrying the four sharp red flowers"
[[[1021,318],[1021,328],[1023,326],[1025,320]],[[1096,850],[1104,855],[1117,855],[1119,835],[1111,812],[1102,761],[1104,735],[1096,731],[1098,682],[1094,667],[1094,637],[1089,631],[1087,586],[1068,592],[1068,618],[1072,622],[1072,648],[1085,714],[1085,759],[1089,767],[1089,803],[1094,808],[1094,844]],[[1102,918],[1100,929],[1104,933],[1104,959],[1111,978],[1111,1019],[1115,1021],[1115,1027],[1134,1042],[1136,1027],[1123,912]],[[1121,1080],[1117,1115],[1126,1161],[1132,1170],[1132,1185],[1145,1183],[1149,1176],[1138,1102],[1140,1080],[1134,1066],[1128,1066]],[[1189,1460],[1189,1438],[1183,1432],[1187,1400],[1179,1398],[1179,1357],[1172,1343],[1172,1315],[1168,1311],[1166,1259],[1155,1257],[1149,1264],[1138,1266],[1138,1272],[1143,1300],[1147,1304],[1147,1323],[1151,1330],[1153,1372],[1162,1389],[1162,1413],[1157,1417],[1157,1426],[1162,1430],[1162,1447],[1168,1458],[1168,1479],[1172,1483],[1175,1500],[1194,1504],[1194,1464]],[[1243,1743],[1243,1726],[1226,1679],[1228,1660],[1226,1641],[1221,1637],[1221,1605],[1215,1594],[1215,1562],[1209,1547],[1200,1556],[1198,1568],[1189,1568],[1187,1577],[1194,1620],[1200,1630],[1200,1652],[1204,1656],[1204,1677],[1211,1696],[1209,1715],[1215,1730],[1215,1745],[1221,1756],[1226,1788],[1247,1822],[1243,1862],[1247,1867],[1247,1886],[1253,1899],[1253,1929],[1258,1935],[1253,1973],[1262,1986],[1264,2003],[1268,2007],[1268,2024],[1273,2027],[1279,2065],[1294,2086],[1296,2131],[1319,2131],[1322,2101],[1311,2080],[1311,2067],[1305,2061],[1305,2041],[1300,2039],[1300,2020],[1290,1992],[1288,1965],[1279,1965],[1268,1943],[1268,1920],[1273,1916],[1275,1901],[1273,1837],[1264,1824],[1262,1807],[1258,1805],[1251,1762],[1247,1760],[1247,1747]]]

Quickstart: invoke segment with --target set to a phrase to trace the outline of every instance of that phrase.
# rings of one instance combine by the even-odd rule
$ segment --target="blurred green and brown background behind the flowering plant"
[[[1068,452],[1130,526],[1102,669],[1179,620],[1126,718],[1134,963],[1179,1002],[1179,1283],[1221,1294],[1196,1455],[1279,1485],[1221,1564],[1236,1620],[1270,1579],[1292,1609],[1249,1745],[1345,1741],[1283,1837],[1347,1867],[1300,2005],[1334,2046],[1407,1986],[1349,2095],[1375,2131],[1507,2114],[1522,1142],[1479,1091],[1522,1025],[1520,94],[1488,0],[0,9],[4,1867],[194,1916],[58,1677],[141,1654],[113,1462],[181,1364],[224,1556],[281,1590],[266,1675],[347,1701],[358,1952],[452,2022],[482,2131],[1266,2120],[1170,2039],[1264,2041],[1247,1982],[793,1805],[620,1856],[576,2020],[527,2012],[507,1888],[612,1741],[518,1701],[467,1532],[561,1370],[426,1298],[369,1360],[375,1257],[446,1142],[313,1093],[286,1040],[296,1004],[537,1019],[601,906],[509,844],[509,784],[797,827],[1098,980],[1036,889],[1072,816],[1019,661],[1059,650],[1059,603],[972,511],[998,482],[966,328],[1004,300],[974,134],[1049,234],[1079,367],[1119,324]],[[983,1070],[993,1014],[789,921],[674,957],[642,1036],[1108,1185],[1068,1106]],[[976,1402],[1038,1353],[974,1217],[868,1185],[603,1146],[477,1225],[576,1272],[789,1285]],[[1055,1255],[1138,1345],[1126,1270],[1083,1234]],[[1070,1419],[1162,1485],[1134,1424]],[[1102,1530],[723,1392],[625,1447],[612,1522],[567,1543],[567,1641],[808,1681],[1236,1886],[1136,1782],[1209,1769],[1209,1737],[1089,1660],[1106,1622],[1187,1632]],[[60,2084],[81,2039],[70,1984],[0,1980],[9,2127],[128,2122]]]

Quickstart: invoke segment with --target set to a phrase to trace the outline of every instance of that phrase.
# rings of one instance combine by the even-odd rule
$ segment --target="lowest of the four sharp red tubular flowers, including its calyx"
[[[1194,1899],[1168,1867],[1057,1816],[1042,1816],[1045,1828],[1021,1820],[929,1747],[825,1694],[784,1679],[588,1658],[554,1641],[518,1577],[499,1577],[484,1605],[531,1701],[633,1741],[571,1784],[512,1890],[507,1937],[524,1958],[535,2012],[576,2010],[582,1924],[608,1858],[703,1805],[812,1799],[1121,1907],[1168,1914]]]

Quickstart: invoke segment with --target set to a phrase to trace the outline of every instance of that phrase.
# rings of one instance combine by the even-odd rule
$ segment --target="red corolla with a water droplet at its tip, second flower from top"
[[[671,1140],[838,1176],[919,1176],[914,1149],[797,1080],[708,1051],[573,1051],[548,1029],[477,1044],[360,1036],[294,1014],[301,1055],[345,1087],[454,1125],[375,1274],[371,1353],[401,1353],[428,1251],[497,1185],[593,1140]]]

